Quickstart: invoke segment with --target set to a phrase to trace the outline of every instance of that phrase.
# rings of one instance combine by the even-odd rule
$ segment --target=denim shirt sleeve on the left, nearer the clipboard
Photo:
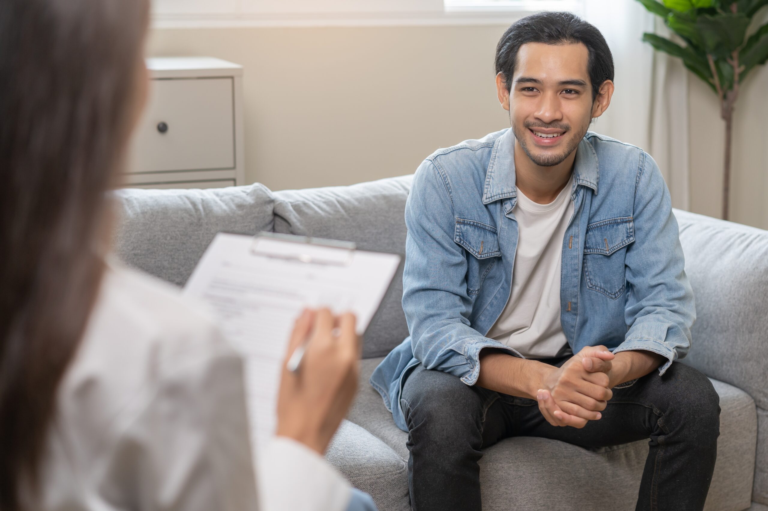
[[[413,356],[427,369],[444,371],[473,385],[479,354],[498,348],[470,325],[467,260],[454,241],[455,213],[450,183],[431,160],[416,171],[406,203],[406,264],[402,308],[411,333]]]

